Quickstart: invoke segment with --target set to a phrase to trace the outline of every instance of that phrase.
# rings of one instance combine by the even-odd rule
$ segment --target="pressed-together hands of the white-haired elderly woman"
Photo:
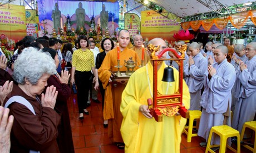
[[[54,108],[56,103],[56,98],[58,91],[56,91],[55,86],[50,86],[46,88],[45,94],[42,93],[41,102],[43,107]]]

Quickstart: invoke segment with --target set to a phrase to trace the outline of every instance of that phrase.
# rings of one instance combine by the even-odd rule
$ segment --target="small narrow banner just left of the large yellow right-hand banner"
[[[140,17],[134,13],[125,13],[125,29],[127,29],[131,36],[140,34]]]

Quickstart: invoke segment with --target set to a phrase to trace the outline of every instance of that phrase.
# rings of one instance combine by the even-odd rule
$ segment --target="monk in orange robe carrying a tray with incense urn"
[[[141,62],[139,61],[137,53],[127,48],[127,45],[130,42],[129,31],[122,29],[119,32],[117,40],[119,41],[120,48],[120,66],[122,66],[120,71],[127,71],[127,68],[124,66],[124,60],[128,61],[130,57],[132,57],[133,61],[137,61],[137,66],[134,69],[137,70],[137,68],[139,68],[138,66],[141,65]],[[109,120],[109,137],[111,137],[114,142],[123,143],[124,141],[122,140],[120,133],[122,123],[120,103],[122,91],[124,90],[126,83],[111,83],[111,72],[117,71],[115,66],[117,66],[117,48],[114,48],[107,53],[98,73],[102,85],[106,89],[103,115],[104,120]],[[124,144],[122,144],[122,146],[124,147]]]

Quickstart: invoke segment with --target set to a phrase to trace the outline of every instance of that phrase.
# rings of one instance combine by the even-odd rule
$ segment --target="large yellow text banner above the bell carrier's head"
[[[163,40],[175,41],[174,33],[180,29],[180,18],[173,14],[174,19],[168,19],[161,14],[149,10],[141,11],[141,35],[145,40],[163,38]]]

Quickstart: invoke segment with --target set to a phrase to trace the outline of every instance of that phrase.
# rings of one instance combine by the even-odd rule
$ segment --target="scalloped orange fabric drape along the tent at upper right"
[[[206,31],[209,31],[213,24],[215,24],[217,28],[223,29],[225,26],[227,26],[228,22],[230,21],[235,28],[240,29],[246,24],[248,17],[252,19],[252,22],[256,26],[256,10],[250,10],[232,14],[232,16],[229,16],[227,18],[220,17],[214,19],[183,22],[181,23],[181,27],[185,30],[191,27],[194,31],[197,31],[200,28],[200,26],[202,26]]]

